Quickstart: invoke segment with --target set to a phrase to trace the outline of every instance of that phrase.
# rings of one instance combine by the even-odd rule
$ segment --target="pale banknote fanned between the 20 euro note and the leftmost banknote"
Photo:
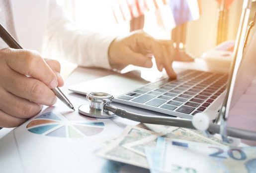
[[[161,129],[161,130],[159,130]],[[206,144],[215,144],[215,145],[223,145],[223,142],[216,138],[211,137],[207,138],[200,132],[195,132],[193,130],[184,129],[184,128],[176,128],[176,127],[160,127],[158,131],[162,131],[158,133],[160,136],[172,138],[172,139],[183,139],[183,140],[189,140],[189,141],[195,141],[195,142],[201,142]],[[137,154],[140,154],[144,157],[146,157],[145,153],[145,146],[148,147],[154,147],[157,144],[157,138],[159,135],[152,135],[151,137],[141,139],[135,142],[124,144],[123,147],[133,151]]]

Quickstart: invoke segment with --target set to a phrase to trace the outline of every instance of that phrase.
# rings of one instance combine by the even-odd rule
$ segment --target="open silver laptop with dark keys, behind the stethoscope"
[[[251,84],[252,77],[256,72],[252,64],[248,64],[256,54],[253,45],[248,44],[247,49],[251,51],[251,56],[245,57],[246,60],[240,66],[246,39],[248,26],[248,6],[244,5],[239,32],[236,39],[234,56],[230,75],[216,72],[206,72],[199,70],[184,69],[177,74],[177,79],[161,79],[154,83],[148,83],[133,77],[122,76],[120,74],[102,77],[85,83],[69,87],[71,91],[86,94],[88,92],[107,92],[115,96],[114,102],[129,105],[135,108],[162,113],[166,116],[192,119],[199,113],[206,113],[210,119],[218,117],[222,106],[230,108],[236,99],[245,92]],[[246,73],[245,73],[246,72]],[[241,75],[243,74],[243,75]],[[250,76],[245,81],[244,75]],[[236,82],[235,82],[236,81]],[[234,90],[234,86],[245,84],[239,89]],[[230,95],[231,94],[231,95]],[[231,98],[233,103],[231,104]],[[147,111],[148,112],[148,111]]]

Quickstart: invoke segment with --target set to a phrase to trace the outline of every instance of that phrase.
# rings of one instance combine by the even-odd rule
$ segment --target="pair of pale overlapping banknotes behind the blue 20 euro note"
[[[120,136],[104,141],[105,146],[98,150],[96,154],[109,160],[151,169],[148,156],[149,148],[156,148],[157,140],[160,136],[167,139],[182,139],[215,146],[225,146],[219,138],[207,138],[196,130],[159,125],[147,125],[147,129],[150,130],[144,128],[128,126]],[[148,153],[146,153],[146,149]]]

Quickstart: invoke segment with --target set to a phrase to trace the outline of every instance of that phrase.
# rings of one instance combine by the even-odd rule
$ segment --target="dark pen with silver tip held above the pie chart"
[[[2,40],[11,48],[15,49],[23,49],[21,45],[8,33],[8,31],[0,24],[0,37]],[[55,93],[55,95],[63,102],[65,103],[69,108],[73,109],[75,111],[74,106],[69,101],[69,99],[63,94],[63,92],[60,90],[59,87],[56,87],[52,89],[52,91]]]

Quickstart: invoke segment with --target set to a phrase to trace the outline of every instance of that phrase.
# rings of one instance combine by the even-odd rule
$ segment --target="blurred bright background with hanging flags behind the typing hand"
[[[57,0],[83,28],[117,34],[143,29],[194,57],[235,40],[243,0]]]

